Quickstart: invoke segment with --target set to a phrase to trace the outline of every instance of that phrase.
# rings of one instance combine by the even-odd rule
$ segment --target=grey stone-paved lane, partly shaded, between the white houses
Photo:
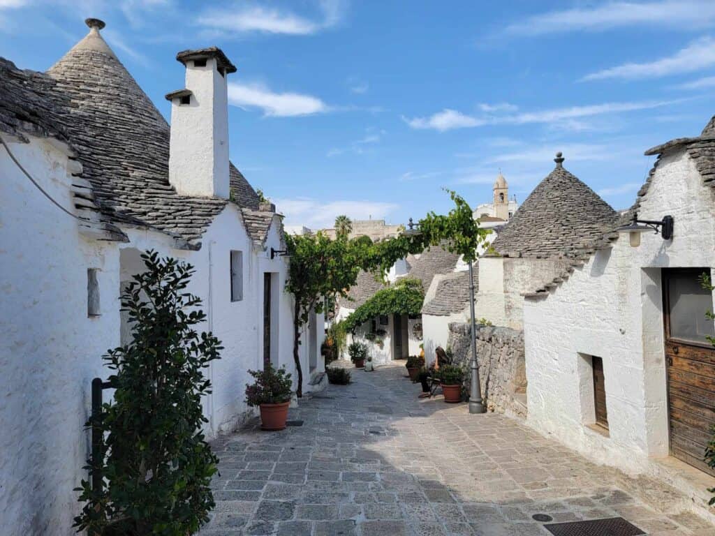
[[[354,383],[290,410],[301,427],[217,440],[216,508],[200,535],[548,536],[538,513],[715,535],[676,506],[676,490],[593,465],[503,415],[418,400],[405,372],[355,370]]]

